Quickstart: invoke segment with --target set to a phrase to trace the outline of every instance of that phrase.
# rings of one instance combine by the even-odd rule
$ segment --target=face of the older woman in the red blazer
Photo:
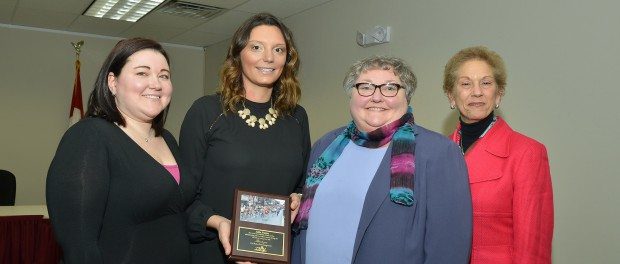
[[[448,99],[459,109],[461,120],[467,124],[489,116],[502,99],[491,66],[482,60],[463,63]]]

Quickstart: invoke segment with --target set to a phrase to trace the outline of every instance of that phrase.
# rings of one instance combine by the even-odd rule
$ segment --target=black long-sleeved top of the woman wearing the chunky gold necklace
[[[246,101],[245,106],[260,118],[270,103]],[[179,142],[182,158],[201,189],[202,204],[190,209],[193,263],[226,263],[215,230],[204,225],[213,214],[230,219],[235,188],[288,196],[303,186],[310,134],[301,106],[259,129],[258,122],[250,127],[236,112],[222,114],[218,95],[205,96],[187,112]]]

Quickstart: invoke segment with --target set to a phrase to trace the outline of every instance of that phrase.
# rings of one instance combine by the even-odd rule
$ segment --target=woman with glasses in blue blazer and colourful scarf
[[[351,67],[344,88],[353,121],[312,148],[292,263],[469,261],[463,155],[414,123],[415,87],[398,58],[370,57]]]

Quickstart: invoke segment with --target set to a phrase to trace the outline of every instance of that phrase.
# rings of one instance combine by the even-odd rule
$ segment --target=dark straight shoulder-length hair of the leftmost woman
[[[110,54],[108,54],[108,57],[99,70],[97,80],[95,80],[95,87],[88,98],[86,116],[100,117],[109,122],[117,123],[120,126],[125,126],[125,119],[116,107],[114,95],[112,95],[110,87],[108,86],[108,74],[113,73],[114,76],[119,76],[121,70],[127,63],[127,58],[145,49],[151,49],[161,53],[164,58],[166,58],[166,63],[170,65],[168,54],[164,48],[154,40],[130,38],[119,41],[112,51],[110,51]],[[164,130],[169,107],[170,105],[153,119],[152,127],[155,130],[155,136],[161,135]]]

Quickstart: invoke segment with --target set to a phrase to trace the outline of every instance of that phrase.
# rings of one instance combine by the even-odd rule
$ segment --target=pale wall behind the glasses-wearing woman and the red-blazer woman
[[[457,117],[441,91],[446,61],[473,45],[499,52],[508,68],[500,114],[549,151],[554,263],[618,263],[618,10],[612,0],[334,0],[285,22],[301,54],[313,140],[350,120],[341,83],[359,58],[407,60],[419,78],[416,121],[447,134]],[[391,43],[357,46],[355,32],[375,25],[392,27]]]

